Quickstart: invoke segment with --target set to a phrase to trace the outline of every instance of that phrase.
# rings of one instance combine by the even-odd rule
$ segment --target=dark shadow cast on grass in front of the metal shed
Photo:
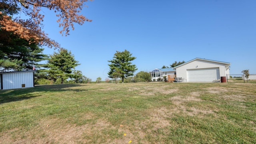
[[[38,85],[38,86],[35,86],[34,88],[0,90],[0,104],[42,96],[42,92],[63,92],[63,91],[70,91],[70,90],[74,92],[86,91],[85,89],[81,90],[81,89],[71,88],[71,87],[78,87],[78,86],[86,86],[86,85],[52,84],[52,85]]]

